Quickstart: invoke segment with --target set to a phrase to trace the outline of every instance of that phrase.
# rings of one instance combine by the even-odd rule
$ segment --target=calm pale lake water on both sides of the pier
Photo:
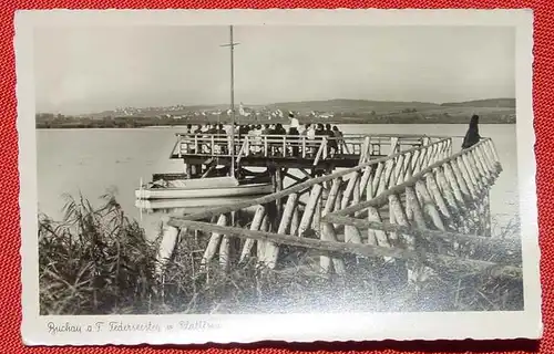
[[[345,125],[345,133],[427,134],[463,136],[466,125]],[[181,173],[183,163],[171,160],[178,127],[142,129],[39,129],[38,195],[39,210],[54,219],[62,217],[63,194],[82,192],[91,202],[106,191],[115,194],[125,212],[142,217],[150,229],[160,216],[141,216],[135,208],[134,190],[154,173]],[[517,163],[515,125],[480,125],[482,136],[492,137],[504,168],[491,190],[491,215],[500,227],[517,216]],[[459,149],[461,138],[453,142]]]

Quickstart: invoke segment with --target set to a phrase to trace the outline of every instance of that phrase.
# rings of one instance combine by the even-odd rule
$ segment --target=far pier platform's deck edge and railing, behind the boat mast
[[[420,147],[440,137],[421,135],[345,135],[342,138],[305,135],[177,134],[172,159],[186,165],[212,164],[230,166],[232,158],[244,167],[335,168],[358,166],[365,158],[379,158],[397,152]],[[234,149],[234,154],[232,154]]]

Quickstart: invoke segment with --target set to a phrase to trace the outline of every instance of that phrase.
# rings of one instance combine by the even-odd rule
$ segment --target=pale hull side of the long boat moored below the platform
[[[271,184],[252,184],[212,188],[144,188],[135,190],[137,199],[197,199],[257,196],[273,192]]]

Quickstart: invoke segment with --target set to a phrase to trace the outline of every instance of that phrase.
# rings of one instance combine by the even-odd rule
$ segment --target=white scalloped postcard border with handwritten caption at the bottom
[[[258,341],[380,341],[540,339],[540,249],[532,107],[533,12],[531,10],[25,10],[16,13],[22,312],[27,345],[203,344]],[[516,28],[516,113],[520,210],[523,232],[525,310],[521,312],[427,312],[366,314],[39,316],[37,246],[37,144],[33,28],[40,25],[511,25]],[[48,323],[69,321],[83,333],[51,335]],[[211,323],[212,330],[86,332],[99,321],[158,324]]]

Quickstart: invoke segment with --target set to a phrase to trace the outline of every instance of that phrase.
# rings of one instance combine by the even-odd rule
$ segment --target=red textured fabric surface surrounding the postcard
[[[291,351],[331,353],[554,353],[554,243],[547,238],[554,230],[554,186],[548,176],[554,173],[554,1],[517,0],[2,0],[0,4],[0,100],[3,116],[0,124],[0,354],[8,353],[177,353],[188,351],[212,354],[248,353],[284,354]],[[185,347],[24,347],[20,336],[21,278],[19,227],[18,133],[16,129],[16,72],[13,55],[13,13],[19,9],[166,9],[166,8],[479,8],[534,10],[534,74],[533,98],[536,131],[538,223],[541,237],[541,278],[543,283],[544,337],[534,341],[489,342],[367,342],[367,343],[260,343],[252,345],[206,345]],[[552,206],[552,207],[551,207]],[[506,323],[505,325],[510,325]]]

